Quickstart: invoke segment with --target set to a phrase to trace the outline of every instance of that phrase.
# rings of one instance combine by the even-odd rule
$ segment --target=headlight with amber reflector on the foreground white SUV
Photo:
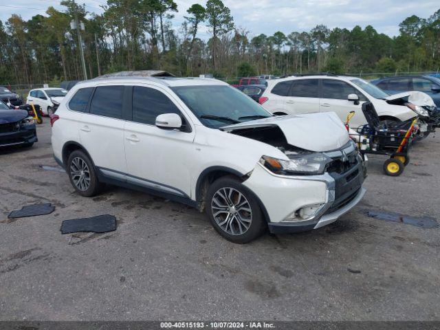
[[[289,160],[263,156],[260,163],[275,174],[281,175],[314,175],[322,174],[331,158],[322,153],[289,155]]]

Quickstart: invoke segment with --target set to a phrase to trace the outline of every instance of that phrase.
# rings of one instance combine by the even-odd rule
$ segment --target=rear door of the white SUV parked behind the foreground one
[[[284,100],[287,113],[319,112],[319,79],[295,79],[292,83]]]

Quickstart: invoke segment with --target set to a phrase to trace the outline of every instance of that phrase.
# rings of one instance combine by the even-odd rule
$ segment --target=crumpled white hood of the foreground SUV
[[[278,126],[287,143],[309,151],[331,151],[349,142],[344,124],[334,112],[279,115],[221,127],[222,131]]]

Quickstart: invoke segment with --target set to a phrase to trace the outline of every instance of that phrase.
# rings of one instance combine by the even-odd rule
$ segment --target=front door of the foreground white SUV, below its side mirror
[[[190,197],[195,130],[166,91],[155,86],[133,87],[132,120],[124,129],[127,181],[181,197]],[[157,115],[177,113],[184,129],[160,129]]]

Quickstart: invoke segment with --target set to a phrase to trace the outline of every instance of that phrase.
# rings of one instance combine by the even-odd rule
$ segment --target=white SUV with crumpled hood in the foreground
[[[116,184],[181,201],[236,243],[320,228],[365,192],[364,159],[336,114],[272,116],[218,80],[88,80],[51,122],[80,195]]]

